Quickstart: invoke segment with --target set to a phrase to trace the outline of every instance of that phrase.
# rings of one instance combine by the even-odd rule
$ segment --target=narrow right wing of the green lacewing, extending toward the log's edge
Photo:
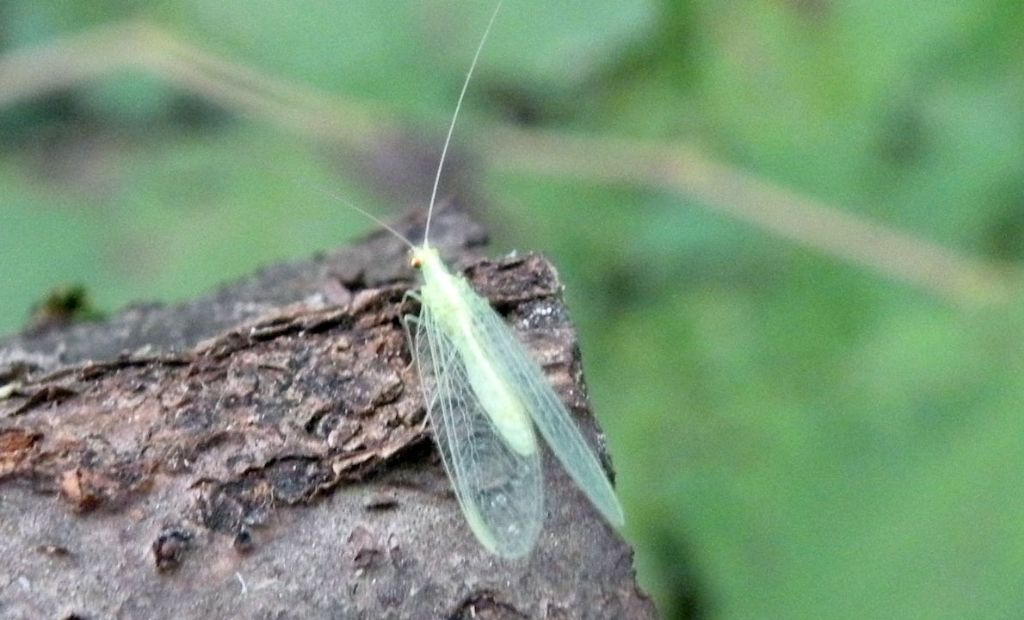
[[[474,329],[494,346],[490,355],[501,361],[551,451],[608,523],[622,527],[626,518],[611,483],[544,371],[487,300],[475,293],[472,299]]]

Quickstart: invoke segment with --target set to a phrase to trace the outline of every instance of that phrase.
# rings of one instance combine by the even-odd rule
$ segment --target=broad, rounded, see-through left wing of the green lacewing
[[[476,538],[505,557],[526,554],[543,525],[540,452],[502,441],[470,387],[463,356],[427,305],[413,352],[441,460]]]

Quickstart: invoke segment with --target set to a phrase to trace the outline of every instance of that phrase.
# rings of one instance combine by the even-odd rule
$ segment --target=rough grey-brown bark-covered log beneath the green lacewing
[[[411,214],[397,226],[422,228]],[[431,229],[541,360],[587,437],[553,267]],[[0,341],[4,618],[652,618],[633,554],[545,455],[536,550],[487,554],[430,440],[376,234],[177,305]]]

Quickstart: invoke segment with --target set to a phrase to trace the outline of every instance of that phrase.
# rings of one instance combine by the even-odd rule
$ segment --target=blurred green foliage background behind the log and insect
[[[33,68],[18,86],[29,91],[73,69],[47,64],[47,45],[145,19],[379,114],[432,164],[492,8],[3,0],[0,51]],[[456,141],[518,124],[685,144],[1013,264],[1024,254],[1022,32],[1020,0],[507,0]],[[370,137],[339,155],[157,65],[23,97],[0,73],[3,332],[57,286],[83,284],[108,312],[186,299],[371,228],[324,189],[382,217],[428,197],[429,174],[397,190],[381,176],[410,168],[388,158],[415,149],[382,144],[368,164],[352,153],[374,152]],[[342,116],[342,133],[374,135],[373,119]],[[543,251],[561,271],[626,536],[665,617],[1024,617],[1024,313],[1012,276],[993,298],[934,294],[685,191],[462,155],[475,165],[453,169],[477,188],[495,252]],[[904,259],[898,244],[881,247],[880,262]]]

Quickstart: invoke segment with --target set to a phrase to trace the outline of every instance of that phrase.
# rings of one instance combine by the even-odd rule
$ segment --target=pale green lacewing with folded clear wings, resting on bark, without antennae
[[[552,452],[614,526],[623,510],[597,456],[512,330],[437,251],[413,250],[423,286],[413,355],[441,460],[470,529],[492,552],[518,557],[544,522],[541,430]]]

